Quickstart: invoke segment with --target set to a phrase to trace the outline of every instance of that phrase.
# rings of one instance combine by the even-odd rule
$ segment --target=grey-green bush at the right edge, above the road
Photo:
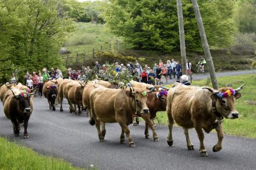
[[[254,54],[256,49],[255,33],[239,33],[235,36],[234,43],[231,47],[233,54]]]

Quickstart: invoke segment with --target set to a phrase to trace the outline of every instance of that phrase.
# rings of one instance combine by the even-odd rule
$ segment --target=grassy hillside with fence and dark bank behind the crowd
[[[159,59],[163,59],[165,62],[167,59],[175,59],[180,61],[180,52],[164,53],[159,51],[145,51],[131,49],[131,45],[124,42],[124,38],[116,37],[102,24],[90,24],[90,23],[76,23],[76,30],[70,33],[65,48],[70,51],[69,54],[62,54],[63,62],[67,66],[86,65],[88,60],[92,60],[93,48],[96,51],[100,50],[102,46],[103,51],[117,52],[118,43],[120,41],[120,51],[118,53],[124,56],[134,56],[136,58],[145,58],[143,63],[147,63],[149,66],[153,66],[154,63],[158,63]],[[193,64],[194,68],[198,62],[198,52],[187,52],[187,58]],[[212,50],[212,59],[216,71],[221,70],[244,70],[250,69],[252,61],[256,60],[255,55],[239,56],[231,54],[229,50]],[[67,61],[68,56],[68,61]],[[96,60],[95,56],[95,60]],[[79,64],[76,64],[77,63]]]

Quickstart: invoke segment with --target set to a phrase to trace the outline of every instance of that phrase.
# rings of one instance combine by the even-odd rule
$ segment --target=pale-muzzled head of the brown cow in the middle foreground
[[[154,89],[150,91],[143,91],[143,89],[134,89],[133,91],[130,88],[130,91],[126,91],[126,95],[134,99],[133,105],[136,108],[137,114],[149,113],[147,107],[147,93],[152,93]]]

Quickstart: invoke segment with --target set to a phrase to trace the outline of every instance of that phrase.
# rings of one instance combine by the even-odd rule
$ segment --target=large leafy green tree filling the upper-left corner
[[[57,0],[0,1],[1,82],[14,68],[22,76],[49,66],[63,68],[58,50],[73,26],[60,6]]]

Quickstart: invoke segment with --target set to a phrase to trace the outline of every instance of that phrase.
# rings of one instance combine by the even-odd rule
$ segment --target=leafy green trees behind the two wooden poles
[[[183,2],[186,47],[202,50],[193,7]],[[209,45],[227,47],[232,42],[234,1],[199,1]],[[138,49],[179,50],[176,1],[121,1],[106,4],[104,19],[117,36],[124,36]]]

